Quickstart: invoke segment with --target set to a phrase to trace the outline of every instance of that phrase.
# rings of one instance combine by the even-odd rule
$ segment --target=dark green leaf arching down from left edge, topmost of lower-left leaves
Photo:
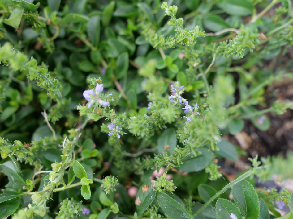
[[[0,164],[0,172],[3,172],[9,180],[5,188],[19,189],[22,188],[22,186],[25,184],[24,179],[21,176],[19,176],[15,171],[3,164]]]

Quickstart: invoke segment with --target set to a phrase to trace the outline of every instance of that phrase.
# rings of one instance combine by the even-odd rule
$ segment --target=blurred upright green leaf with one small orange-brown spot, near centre
[[[161,136],[158,138],[158,152],[160,154],[168,151],[168,155],[174,154],[174,149],[177,146],[176,131],[174,128],[168,128],[164,130]]]

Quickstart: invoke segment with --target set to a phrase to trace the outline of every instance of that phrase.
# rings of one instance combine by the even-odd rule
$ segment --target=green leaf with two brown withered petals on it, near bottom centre
[[[148,180],[146,183],[142,184],[136,194],[136,212],[139,217],[143,215],[145,210],[153,202],[156,197],[156,191],[152,189],[152,181]]]

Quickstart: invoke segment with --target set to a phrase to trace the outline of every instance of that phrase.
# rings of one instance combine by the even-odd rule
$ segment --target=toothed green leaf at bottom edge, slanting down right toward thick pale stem
[[[185,208],[167,194],[160,192],[157,200],[163,212],[168,217],[176,219],[191,218]]]

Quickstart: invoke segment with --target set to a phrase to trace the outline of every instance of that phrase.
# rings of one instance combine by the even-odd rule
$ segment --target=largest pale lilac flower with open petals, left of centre
[[[98,103],[98,104],[104,106],[105,109],[106,109],[106,106],[109,106],[109,102],[103,101],[101,99],[101,96],[99,95],[103,90],[104,90],[103,84],[97,83],[95,91],[94,90],[85,90],[84,91],[84,93],[83,93],[84,98],[87,101],[89,101],[88,108],[91,108],[93,106],[93,103]],[[109,95],[107,95],[106,97],[108,97]]]

